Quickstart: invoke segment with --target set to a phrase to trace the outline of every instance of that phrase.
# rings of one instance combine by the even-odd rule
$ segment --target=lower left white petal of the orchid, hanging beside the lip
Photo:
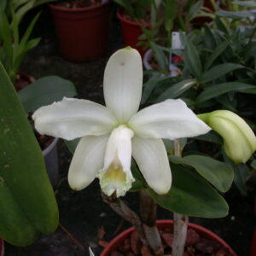
[[[108,136],[85,136],[73,155],[68,171],[68,183],[74,190],[87,187],[104,164]]]

